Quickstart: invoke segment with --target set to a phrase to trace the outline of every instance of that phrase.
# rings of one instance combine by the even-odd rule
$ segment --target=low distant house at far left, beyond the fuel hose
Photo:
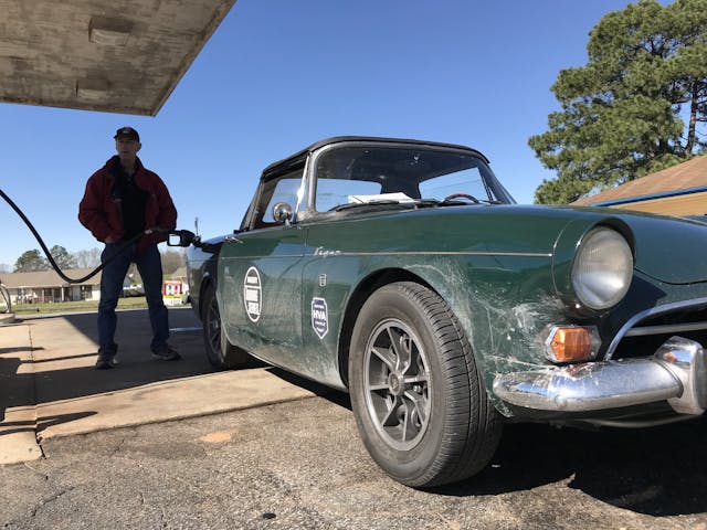
[[[82,278],[93,268],[64,271],[70,278]],[[0,282],[10,292],[13,304],[41,304],[101,298],[101,273],[81,284],[70,284],[54,271],[35,273],[0,273]]]

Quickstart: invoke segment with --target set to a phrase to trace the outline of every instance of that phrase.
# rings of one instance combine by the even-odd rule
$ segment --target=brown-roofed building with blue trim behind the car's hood
[[[666,215],[707,215],[707,155],[584,197],[572,204]]]

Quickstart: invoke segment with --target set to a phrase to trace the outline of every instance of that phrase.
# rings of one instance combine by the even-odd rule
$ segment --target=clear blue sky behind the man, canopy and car
[[[321,138],[479,149],[521,203],[552,178],[528,147],[561,68],[626,0],[238,0],[156,117],[0,104],[2,189],[48,246],[101,247],[76,219],[87,178],[137,128],[178,226],[236,229],[261,170]],[[667,3],[667,2],[665,2]],[[40,248],[0,200],[0,264]]]

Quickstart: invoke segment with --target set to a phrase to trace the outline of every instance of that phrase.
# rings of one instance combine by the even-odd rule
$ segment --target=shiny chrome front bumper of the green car
[[[665,401],[679,414],[707,409],[707,353],[672,337],[651,358],[585,362],[497,375],[494,393],[540,411],[588,412]]]

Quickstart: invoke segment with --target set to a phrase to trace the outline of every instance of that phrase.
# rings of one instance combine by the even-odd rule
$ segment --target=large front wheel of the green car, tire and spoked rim
[[[381,287],[354,327],[349,391],[359,433],[376,463],[412,487],[481,471],[503,423],[446,303],[410,282]]]

